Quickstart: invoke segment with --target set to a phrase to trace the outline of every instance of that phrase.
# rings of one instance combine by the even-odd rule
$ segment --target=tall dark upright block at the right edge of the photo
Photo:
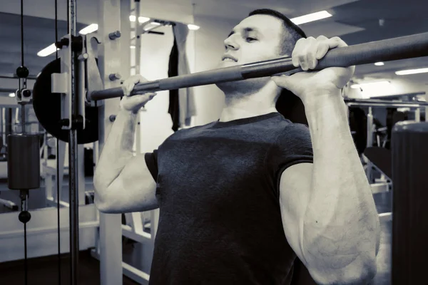
[[[428,123],[392,130],[393,285],[427,284]]]

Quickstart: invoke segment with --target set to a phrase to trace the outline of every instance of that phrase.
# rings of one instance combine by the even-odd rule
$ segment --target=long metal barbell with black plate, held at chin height
[[[428,33],[418,33],[412,36],[389,38],[382,41],[372,41],[335,48],[327,52],[325,57],[318,62],[315,70],[322,70],[329,67],[357,66],[376,63],[378,61],[396,61],[423,56],[428,56]],[[267,77],[280,73],[292,74],[300,71],[302,70],[295,68],[292,65],[292,59],[287,56],[138,83],[133,88],[131,95],[205,86],[229,81],[242,81],[249,78]],[[59,123],[61,120],[61,98],[57,94],[51,93],[51,74],[60,72],[59,59],[52,61],[41,71],[33,88],[33,105],[34,113],[36,113],[36,117],[45,130],[59,140],[68,142],[68,130],[62,130]],[[87,82],[87,84],[89,86],[91,82]],[[93,90],[92,88],[88,88],[88,86],[86,86],[88,90]],[[121,96],[123,96],[121,87],[108,88],[88,92],[86,100],[93,102]],[[290,108],[293,108],[293,106],[290,106]],[[85,129],[78,130],[77,133],[79,144],[98,140],[98,107],[87,103],[85,106],[85,115]]]

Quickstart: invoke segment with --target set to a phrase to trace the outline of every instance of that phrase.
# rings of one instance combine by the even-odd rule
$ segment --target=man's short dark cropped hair
[[[287,18],[284,14],[272,10],[272,9],[257,9],[252,11],[248,16],[254,15],[269,15],[274,16],[277,19],[282,20],[282,26],[284,27],[284,32],[282,33],[282,42],[280,45],[280,55],[288,53],[291,56],[291,52],[295,47],[296,42],[300,38],[306,38],[306,34],[302,29],[294,24],[290,19]]]

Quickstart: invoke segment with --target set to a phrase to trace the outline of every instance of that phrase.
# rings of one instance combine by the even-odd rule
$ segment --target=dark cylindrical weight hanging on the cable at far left
[[[40,188],[40,136],[7,137],[7,183],[11,190]]]

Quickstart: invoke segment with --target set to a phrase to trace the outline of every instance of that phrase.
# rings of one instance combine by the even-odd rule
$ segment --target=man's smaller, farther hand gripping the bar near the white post
[[[147,82],[146,78],[143,78],[140,74],[131,76],[126,79],[122,84],[123,98],[121,100],[121,109],[131,111],[132,113],[138,113],[146,103],[156,96],[156,93],[142,93],[138,95],[132,95],[131,91],[138,83]]]

